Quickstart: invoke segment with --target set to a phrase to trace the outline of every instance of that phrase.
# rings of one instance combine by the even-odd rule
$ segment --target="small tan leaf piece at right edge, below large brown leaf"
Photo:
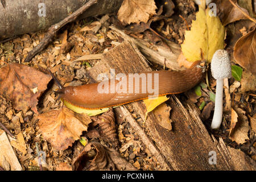
[[[255,91],[256,90],[256,75],[252,75],[249,71],[243,71],[241,80],[241,91]]]

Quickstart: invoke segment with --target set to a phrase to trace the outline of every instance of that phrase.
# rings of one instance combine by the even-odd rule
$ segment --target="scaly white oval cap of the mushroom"
[[[212,56],[210,69],[212,70],[212,76],[216,80],[230,78],[232,74],[228,52],[224,49],[218,49]]]

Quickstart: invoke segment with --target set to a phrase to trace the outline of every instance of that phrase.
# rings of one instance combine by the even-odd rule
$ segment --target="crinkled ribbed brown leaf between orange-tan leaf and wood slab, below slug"
[[[89,138],[101,137],[102,139],[106,139],[108,142],[113,142],[114,146],[117,146],[118,140],[113,109],[109,109],[109,111],[102,115],[91,117],[91,119],[93,121],[92,126],[94,129],[88,131],[86,136]]]

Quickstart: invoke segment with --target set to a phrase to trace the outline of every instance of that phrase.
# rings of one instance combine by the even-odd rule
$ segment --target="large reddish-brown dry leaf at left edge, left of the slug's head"
[[[51,79],[51,76],[27,65],[8,64],[0,69],[0,95],[12,101],[16,110],[26,112],[31,107],[38,113],[38,98]],[[34,90],[38,92],[33,93]]]

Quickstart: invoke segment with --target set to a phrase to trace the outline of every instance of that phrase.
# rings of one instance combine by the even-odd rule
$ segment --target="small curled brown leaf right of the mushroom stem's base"
[[[236,113],[234,113],[234,111],[236,111]],[[238,144],[243,144],[246,142],[246,140],[249,140],[249,137],[248,137],[249,122],[247,117],[245,116],[245,111],[243,111],[240,108],[237,108],[234,111],[233,111],[233,119],[232,119],[233,123],[232,123],[232,126],[230,126],[230,130],[232,129],[231,127],[234,127],[234,128],[230,132],[229,138],[232,139],[232,141],[237,142]],[[238,115],[238,117],[236,114]],[[237,122],[236,122],[236,118],[237,118]]]

